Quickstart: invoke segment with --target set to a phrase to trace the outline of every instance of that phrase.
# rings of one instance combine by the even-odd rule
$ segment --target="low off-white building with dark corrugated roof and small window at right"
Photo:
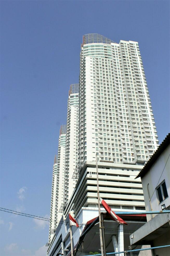
[[[136,178],[141,178],[146,211],[170,210],[170,133]],[[131,234],[131,245],[170,244],[170,214],[147,214],[147,223]],[[154,249],[170,255],[170,247]]]

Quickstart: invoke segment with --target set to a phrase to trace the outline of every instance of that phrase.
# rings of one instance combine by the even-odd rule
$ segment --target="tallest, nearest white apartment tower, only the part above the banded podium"
[[[144,163],[158,146],[139,45],[83,36],[80,54],[79,163]]]

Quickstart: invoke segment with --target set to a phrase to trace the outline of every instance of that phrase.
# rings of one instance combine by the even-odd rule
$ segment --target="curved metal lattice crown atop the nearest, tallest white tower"
[[[91,44],[91,43],[103,43],[103,44],[110,44],[115,43],[113,40],[104,37],[100,34],[86,34],[83,36],[83,45],[84,44]]]

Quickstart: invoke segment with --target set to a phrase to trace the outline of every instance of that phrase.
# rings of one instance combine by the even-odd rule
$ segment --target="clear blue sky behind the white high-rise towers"
[[[169,132],[169,1],[1,1],[1,207],[49,216],[54,155],[83,34],[139,42]],[[45,255],[48,222],[1,212],[1,255]]]

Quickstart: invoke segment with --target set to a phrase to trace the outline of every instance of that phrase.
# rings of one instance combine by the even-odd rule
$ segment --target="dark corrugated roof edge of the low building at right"
[[[162,141],[160,146],[156,149],[155,153],[151,156],[149,161],[146,163],[146,165],[143,167],[143,169],[140,171],[138,176],[136,176],[135,179],[139,177],[143,177],[147,171],[151,168],[151,166],[154,164],[154,162],[158,159],[160,154],[167,148],[167,146],[170,144],[170,133],[166,136],[166,138]]]

